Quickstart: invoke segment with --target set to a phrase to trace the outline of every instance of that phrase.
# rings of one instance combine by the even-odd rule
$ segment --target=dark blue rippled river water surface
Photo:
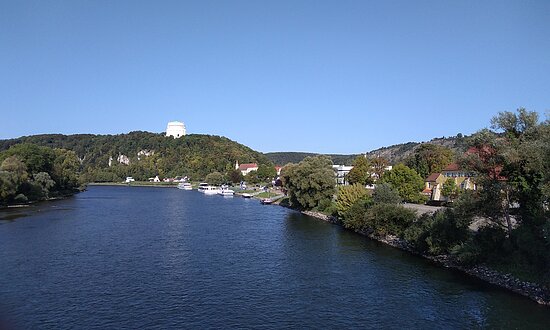
[[[0,211],[17,328],[549,328],[550,309],[257,200],[91,187]]]

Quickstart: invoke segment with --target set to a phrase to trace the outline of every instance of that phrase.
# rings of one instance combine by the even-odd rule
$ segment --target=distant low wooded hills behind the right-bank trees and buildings
[[[372,151],[367,152],[368,157],[384,157],[391,164],[397,164],[411,155],[416,148],[421,144],[436,144],[445,146],[456,152],[465,151],[467,137],[462,136],[461,134],[453,137],[441,137],[435,138],[427,142],[407,142],[401,144],[395,144],[389,147],[382,147]],[[287,163],[299,163],[304,158],[308,156],[316,156],[319,154],[307,153],[307,152],[269,152],[265,154],[269,160],[277,165],[285,165]],[[358,156],[357,154],[352,155],[338,155],[338,154],[327,154],[332,159],[334,164],[340,165],[351,165],[353,160]]]

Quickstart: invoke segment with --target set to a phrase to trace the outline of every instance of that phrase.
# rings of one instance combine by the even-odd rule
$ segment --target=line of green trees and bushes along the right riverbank
[[[467,139],[467,153],[426,146],[405,160],[410,167],[397,164],[380,176],[373,174],[375,159],[361,156],[348,186],[335,187],[326,157],[287,165],[282,178],[289,203],[337,216],[361,233],[397,236],[422,254],[550,285],[550,119],[522,108],[499,113],[491,124]],[[401,204],[422,202],[422,177],[450,162],[475,173],[478,189],[449,181],[444,189],[454,203],[422,216]],[[374,181],[373,192],[365,189]]]

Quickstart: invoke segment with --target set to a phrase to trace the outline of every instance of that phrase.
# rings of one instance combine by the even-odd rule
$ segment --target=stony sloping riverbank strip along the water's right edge
[[[281,205],[281,206],[284,206],[284,205]],[[338,220],[334,216],[329,216],[329,215],[326,215],[320,212],[314,212],[314,211],[301,211],[301,213],[332,223],[332,224],[336,224],[340,226],[342,225],[340,220]],[[431,255],[420,254],[417,251],[413,250],[410,247],[410,245],[407,243],[407,241],[400,239],[399,237],[396,237],[396,236],[388,235],[385,237],[377,237],[375,235],[365,233],[365,232],[359,232],[359,231],[355,231],[355,232],[362,236],[366,236],[370,239],[392,246],[394,248],[398,248],[400,250],[404,250],[411,254],[420,256],[424,259],[430,260],[431,262],[439,266],[458,270],[464,274],[475,277],[484,282],[487,282],[492,285],[496,285],[500,288],[507,289],[514,293],[520,294],[524,297],[527,297],[537,302],[540,305],[550,307],[550,289],[545,288],[536,283],[522,281],[510,274],[502,273],[483,265],[478,265],[474,267],[465,267],[463,265],[458,264],[456,260],[454,260],[454,258],[450,255],[431,256]]]

